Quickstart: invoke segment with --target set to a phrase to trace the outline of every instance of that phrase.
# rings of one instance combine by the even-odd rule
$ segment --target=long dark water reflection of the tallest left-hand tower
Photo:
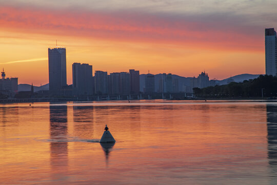
[[[50,164],[54,178],[67,171],[67,106],[50,105]]]

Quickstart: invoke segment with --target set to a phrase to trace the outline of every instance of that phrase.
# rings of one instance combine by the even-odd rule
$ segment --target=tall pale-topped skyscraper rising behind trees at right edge
[[[277,39],[274,28],[265,29],[266,75],[276,76],[277,72]]]

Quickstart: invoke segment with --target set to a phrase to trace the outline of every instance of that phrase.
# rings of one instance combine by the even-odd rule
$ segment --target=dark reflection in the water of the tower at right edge
[[[266,105],[267,111],[267,142],[268,163],[277,172],[277,106]]]

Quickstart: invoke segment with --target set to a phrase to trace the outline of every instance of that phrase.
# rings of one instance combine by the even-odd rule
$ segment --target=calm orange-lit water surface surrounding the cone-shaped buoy
[[[0,183],[277,184],[277,103],[1,105]]]

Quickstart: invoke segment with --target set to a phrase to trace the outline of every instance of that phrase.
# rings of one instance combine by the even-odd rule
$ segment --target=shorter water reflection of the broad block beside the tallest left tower
[[[74,136],[93,138],[93,106],[73,106]]]

